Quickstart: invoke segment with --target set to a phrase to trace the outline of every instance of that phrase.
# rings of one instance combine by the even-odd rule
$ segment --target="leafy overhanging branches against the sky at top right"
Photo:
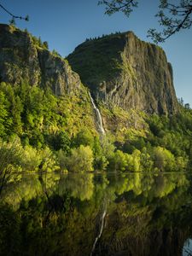
[[[98,4],[106,6],[105,14],[113,15],[116,12],[123,12],[127,17],[138,5],[136,0],[102,0]],[[163,43],[176,32],[190,28],[192,24],[192,1],[180,0],[177,3],[170,3],[168,0],[160,0],[159,11],[155,15],[159,19],[161,32],[154,28],[148,30],[148,37],[154,43]]]

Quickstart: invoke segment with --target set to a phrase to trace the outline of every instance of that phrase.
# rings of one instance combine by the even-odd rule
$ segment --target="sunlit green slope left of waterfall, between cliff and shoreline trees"
[[[83,96],[83,91],[82,91]],[[90,106],[78,96],[56,97],[50,90],[30,86],[25,81],[12,86],[0,84],[0,136],[17,134],[23,143],[42,148],[60,148],[69,152],[72,134],[81,127],[94,133]]]

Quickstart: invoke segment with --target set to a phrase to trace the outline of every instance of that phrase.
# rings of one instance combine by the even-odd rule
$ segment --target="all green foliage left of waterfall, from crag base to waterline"
[[[80,170],[92,170],[90,148],[94,148],[93,134],[96,131],[91,115],[82,115],[85,109],[89,111],[90,108],[85,100],[87,95],[82,90],[85,99],[72,97],[56,97],[51,91],[32,87],[25,81],[15,86],[0,84],[0,136],[5,140],[0,146],[1,157],[6,159],[5,156],[9,155],[7,166],[25,171],[54,171],[59,168],[58,164],[61,169],[66,168],[64,155],[71,154],[67,159],[70,170],[78,167]],[[6,142],[15,134],[20,137],[18,146]],[[77,149],[71,150],[72,147]],[[54,150],[60,150],[60,153],[55,154]],[[20,158],[16,153],[20,153]],[[79,159],[82,157],[80,166],[76,163],[78,154]],[[105,160],[100,162],[105,166]]]

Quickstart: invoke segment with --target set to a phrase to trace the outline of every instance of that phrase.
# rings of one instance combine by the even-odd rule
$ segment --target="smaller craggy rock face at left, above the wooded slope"
[[[51,88],[55,95],[72,93],[80,88],[77,73],[67,61],[35,44],[28,32],[14,26],[0,25],[0,82]]]

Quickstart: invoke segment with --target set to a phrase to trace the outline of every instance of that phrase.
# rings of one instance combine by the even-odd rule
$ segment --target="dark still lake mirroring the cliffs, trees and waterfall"
[[[187,172],[14,180],[0,197],[0,255],[192,255]]]

